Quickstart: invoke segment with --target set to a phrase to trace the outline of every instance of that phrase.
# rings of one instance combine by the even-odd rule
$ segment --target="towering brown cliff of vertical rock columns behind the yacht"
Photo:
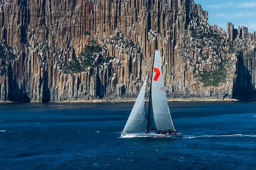
[[[193,0],[0,0],[0,101],[136,97],[155,49],[169,98],[256,98],[256,32]]]

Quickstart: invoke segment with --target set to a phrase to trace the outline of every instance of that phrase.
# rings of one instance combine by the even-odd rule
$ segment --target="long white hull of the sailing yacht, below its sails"
[[[133,138],[133,137],[154,137],[154,138],[183,138],[182,133],[175,134],[156,134],[156,133],[121,133],[121,138]]]

